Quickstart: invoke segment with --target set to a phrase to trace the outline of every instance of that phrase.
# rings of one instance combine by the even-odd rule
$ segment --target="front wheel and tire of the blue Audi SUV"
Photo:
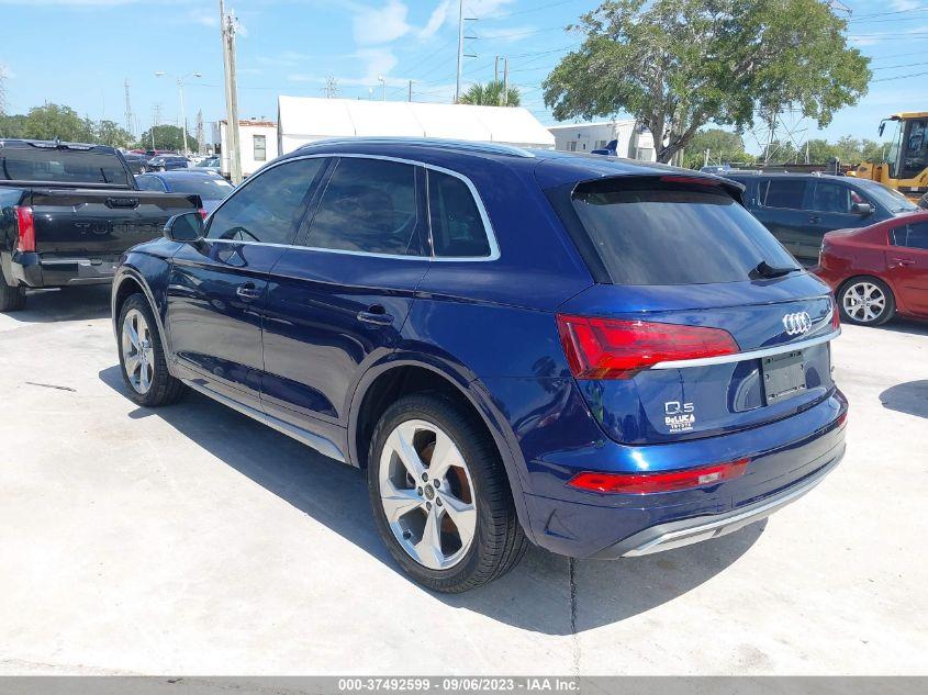
[[[157,407],[179,401],[187,386],[168,372],[161,336],[148,300],[133,294],[120,309],[120,371],[128,397],[138,405]]]

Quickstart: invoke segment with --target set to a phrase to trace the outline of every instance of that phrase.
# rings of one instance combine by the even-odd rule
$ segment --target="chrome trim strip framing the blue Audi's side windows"
[[[248,244],[248,245],[258,245],[258,246],[268,246],[268,247],[282,247],[282,248],[298,248],[298,249],[309,249],[313,251],[321,251],[324,254],[347,254],[350,256],[370,256],[372,258],[401,258],[405,260],[427,260],[432,262],[488,262],[497,260],[500,258],[500,245],[496,242],[496,233],[493,229],[493,225],[490,223],[490,216],[487,214],[487,208],[483,205],[483,199],[480,198],[480,193],[477,191],[477,187],[474,187],[473,182],[459,173],[458,171],[454,171],[451,169],[446,169],[445,167],[439,167],[432,164],[426,164],[425,161],[417,161],[415,159],[403,159],[400,157],[388,157],[384,155],[364,155],[357,153],[325,153],[325,154],[315,154],[315,155],[301,155],[299,157],[288,157],[287,159],[281,159],[280,161],[272,161],[269,165],[261,167],[258,171],[253,173],[248,179],[243,182],[235,191],[228,195],[225,200],[223,200],[219,206],[216,206],[213,212],[206,217],[204,225],[209,227],[209,224],[212,222],[213,215],[216,214],[220,210],[222,210],[223,205],[225,205],[230,200],[238,195],[238,193],[254,180],[265,175],[265,172],[270,171],[279,166],[287,164],[288,161],[301,161],[303,159],[321,159],[321,158],[349,158],[349,159],[381,159],[384,161],[395,161],[398,164],[406,164],[414,167],[422,167],[423,169],[432,169],[433,171],[438,171],[440,173],[447,173],[448,176],[452,176],[460,181],[463,181],[467,186],[470,194],[473,197],[473,202],[477,204],[477,210],[480,213],[480,220],[483,222],[483,228],[487,232],[487,240],[490,244],[490,255],[489,256],[479,256],[479,257],[448,257],[448,256],[435,256],[434,248],[432,249],[432,256],[400,256],[396,254],[371,254],[367,251],[351,251],[351,250],[344,250],[344,249],[334,249],[334,248],[318,248],[316,246],[300,246],[298,244],[269,244],[265,242],[236,242],[234,239],[214,239],[210,238],[209,236],[205,237],[205,240],[209,243],[223,243],[223,244]],[[426,177],[426,181],[428,177]],[[427,191],[426,191],[427,194]],[[432,218],[426,221],[428,225],[428,234],[429,238],[432,236]]]

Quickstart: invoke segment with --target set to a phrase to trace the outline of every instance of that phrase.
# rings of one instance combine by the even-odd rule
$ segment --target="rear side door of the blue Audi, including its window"
[[[334,158],[301,237],[273,268],[265,310],[265,412],[329,439],[353,386],[392,351],[428,268],[424,173]]]

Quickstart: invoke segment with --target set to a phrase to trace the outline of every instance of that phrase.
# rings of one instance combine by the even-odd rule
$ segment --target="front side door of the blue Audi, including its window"
[[[166,324],[177,365],[250,407],[260,407],[268,274],[297,236],[322,168],[287,160],[249,179],[210,216],[205,238],[171,259]]]

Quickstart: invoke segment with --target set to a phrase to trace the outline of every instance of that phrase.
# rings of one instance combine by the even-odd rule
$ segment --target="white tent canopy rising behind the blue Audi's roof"
[[[505,107],[279,97],[277,127],[281,154],[326,137],[436,137],[555,146],[554,135],[532,113]]]

